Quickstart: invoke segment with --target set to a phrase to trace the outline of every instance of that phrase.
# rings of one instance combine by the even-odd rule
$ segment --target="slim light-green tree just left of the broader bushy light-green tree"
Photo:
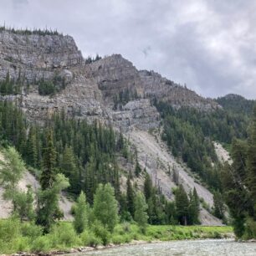
[[[81,192],[74,206],[74,229],[83,233],[88,227],[88,209],[84,192]]]

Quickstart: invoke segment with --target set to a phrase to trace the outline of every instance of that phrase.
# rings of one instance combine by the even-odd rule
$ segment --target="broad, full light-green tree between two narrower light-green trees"
[[[94,198],[93,213],[96,220],[112,232],[118,223],[118,208],[115,200],[115,191],[111,185],[100,184]]]

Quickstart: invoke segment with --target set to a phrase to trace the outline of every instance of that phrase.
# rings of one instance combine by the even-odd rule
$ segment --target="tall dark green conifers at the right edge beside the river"
[[[224,199],[238,238],[255,238],[256,219],[256,108],[247,141],[233,140],[233,164],[222,171]]]

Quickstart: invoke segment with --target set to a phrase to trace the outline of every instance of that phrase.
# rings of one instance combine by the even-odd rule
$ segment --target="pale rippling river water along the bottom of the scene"
[[[256,256],[256,243],[233,240],[194,240],[148,243],[79,253],[79,256]]]

